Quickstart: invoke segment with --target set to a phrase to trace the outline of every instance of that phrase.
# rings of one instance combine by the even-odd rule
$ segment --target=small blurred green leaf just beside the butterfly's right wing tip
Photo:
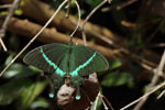
[[[110,61],[110,69],[116,69],[122,65],[122,62],[120,58],[114,58]]]

